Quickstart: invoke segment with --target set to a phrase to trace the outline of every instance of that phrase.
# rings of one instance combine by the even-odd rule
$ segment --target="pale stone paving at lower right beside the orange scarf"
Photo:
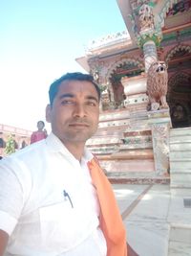
[[[113,184],[127,229],[139,256],[191,256],[191,207],[169,184]],[[191,198],[191,195],[190,195]]]

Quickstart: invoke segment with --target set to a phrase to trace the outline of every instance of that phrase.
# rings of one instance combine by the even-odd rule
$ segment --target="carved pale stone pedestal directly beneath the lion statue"
[[[169,171],[169,133],[171,128],[169,110],[150,111],[147,114],[152,130],[156,173],[159,176],[165,176]]]

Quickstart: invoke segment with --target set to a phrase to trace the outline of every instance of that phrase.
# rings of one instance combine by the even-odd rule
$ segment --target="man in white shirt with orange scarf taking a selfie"
[[[0,255],[126,256],[112,189],[85,148],[99,88],[90,75],[68,73],[49,96],[52,133],[0,164]]]

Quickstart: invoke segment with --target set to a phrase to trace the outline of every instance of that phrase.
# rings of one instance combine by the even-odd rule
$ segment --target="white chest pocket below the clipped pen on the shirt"
[[[77,243],[76,216],[68,199],[42,207],[39,212],[42,243],[46,250],[61,253]]]

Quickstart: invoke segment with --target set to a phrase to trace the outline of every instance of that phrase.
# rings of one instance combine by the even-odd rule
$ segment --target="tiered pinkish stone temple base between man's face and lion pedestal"
[[[137,114],[134,115],[134,110]],[[107,175],[155,175],[152,133],[142,105],[100,114],[97,132],[87,142]]]

